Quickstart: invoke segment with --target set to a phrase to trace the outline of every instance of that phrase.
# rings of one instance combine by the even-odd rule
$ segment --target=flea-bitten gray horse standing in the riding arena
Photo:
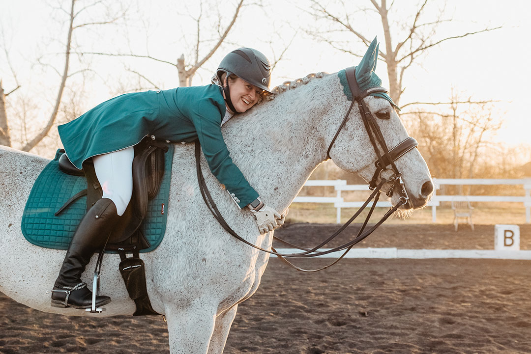
[[[375,58],[358,73],[370,74]],[[364,99],[378,119],[387,146],[408,137],[386,99]],[[276,210],[285,210],[312,171],[327,158],[327,148],[345,116],[349,102],[337,74],[309,75],[277,88],[264,100],[223,127],[232,158],[260,196]],[[366,180],[374,173],[376,154],[357,109],[341,130],[330,157],[342,169]],[[113,301],[101,314],[50,306],[50,290],[65,251],[44,249],[24,240],[20,225],[25,201],[46,158],[0,148],[0,290],[14,300],[44,312],[74,316],[132,314],[118,272],[117,254],[105,259],[102,293]],[[253,244],[268,249],[273,233],[259,234],[248,210],[239,211],[201,161],[208,188],[227,223]],[[401,156],[410,203],[423,207],[433,189],[430,172],[417,149]],[[275,186],[271,188],[270,186]],[[384,188],[386,186],[384,185]],[[388,187],[388,186],[387,186]],[[397,194],[397,193],[395,193]],[[393,196],[393,204],[399,196]],[[141,253],[153,309],[167,318],[171,353],[221,353],[239,303],[260,284],[269,254],[230,236],[205,206],[195,175],[193,144],[175,146],[166,235],[160,246]],[[95,258],[87,269],[93,269]],[[92,267],[92,268],[91,268]],[[91,284],[85,272],[83,281]]]

